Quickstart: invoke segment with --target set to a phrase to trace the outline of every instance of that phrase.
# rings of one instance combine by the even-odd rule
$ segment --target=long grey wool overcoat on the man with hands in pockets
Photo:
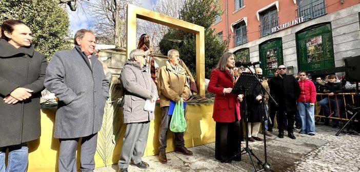
[[[97,133],[103,122],[109,81],[103,66],[78,46],[54,54],[46,70],[44,85],[58,98],[55,138],[78,138]]]

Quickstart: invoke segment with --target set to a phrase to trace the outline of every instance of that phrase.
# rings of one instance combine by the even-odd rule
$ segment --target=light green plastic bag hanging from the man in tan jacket
[[[186,130],[186,120],[184,116],[184,101],[181,99],[175,104],[174,112],[170,121],[170,131],[182,133]]]

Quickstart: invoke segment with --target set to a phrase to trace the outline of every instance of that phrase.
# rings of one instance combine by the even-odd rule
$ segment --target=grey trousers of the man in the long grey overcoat
[[[59,139],[59,172],[76,172],[76,148],[80,138]],[[96,151],[97,133],[82,138],[80,154],[80,171],[95,169],[94,155]]]

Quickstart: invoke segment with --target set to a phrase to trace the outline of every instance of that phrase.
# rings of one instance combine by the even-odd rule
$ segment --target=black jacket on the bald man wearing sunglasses
[[[269,100],[271,108],[275,111],[297,111],[296,101],[300,96],[300,86],[292,75],[276,76],[269,80],[270,95],[278,103]]]

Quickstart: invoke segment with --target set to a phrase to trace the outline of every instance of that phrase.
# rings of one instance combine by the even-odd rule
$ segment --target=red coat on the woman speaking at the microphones
[[[240,109],[237,95],[223,94],[224,88],[233,88],[232,77],[226,71],[212,70],[208,91],[216,94],[212,118],[216,122],[234,122],[235,114],[240,120]]]

